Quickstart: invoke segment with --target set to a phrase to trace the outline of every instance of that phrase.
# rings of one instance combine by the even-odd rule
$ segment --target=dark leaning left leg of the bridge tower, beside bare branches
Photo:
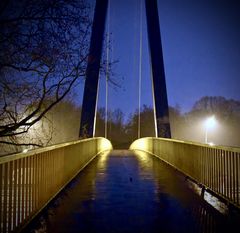
[[[98,80],[108,0],[96,0],[92,35],[83,94],[79,137],[93,137],[97,106]]]

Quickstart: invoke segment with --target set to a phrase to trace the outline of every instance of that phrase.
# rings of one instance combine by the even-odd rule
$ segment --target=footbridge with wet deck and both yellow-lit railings
[[[1,232],[239,232],[239,149],[112,149],[92,138],[1,157]]]

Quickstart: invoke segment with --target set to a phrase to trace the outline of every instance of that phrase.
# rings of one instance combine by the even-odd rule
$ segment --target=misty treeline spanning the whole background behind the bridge
[[[182,113],[180,107],[169,108],[172,138],[204,143],[205,120],[214,115],[217,124],[208,131],[208,142],[216,145],[240,147],[240,101],[224,97],[206,96],[199,99],[191,111]],[[81,107],[69,100],[60,102],[39,121],[20,143],[36,143],[42,146],[77,140]],[[127,117],[127,119],[126,119]],[[138,111],[125,116],[121,109],[109,110],[107,138],[115,148],[128,148],[138,138]],[[144,105],[140,115],[141,137],[155,136],[153,109]],[[105,109],[99,108],[95,136],[105,136]],[[2,145],[1,154],[15,153],[26,147]],[[33,147],[27,147],[29,149]]]

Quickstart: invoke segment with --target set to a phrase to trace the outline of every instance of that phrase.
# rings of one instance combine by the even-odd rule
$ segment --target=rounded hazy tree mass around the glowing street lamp
[[[183,129],[176,138],[204,142],[204,119],[214,115],[217,125],[209,130],[208,139],[217,145],[240,146],[240,101],[224,97],[205,96],[183,116]]]

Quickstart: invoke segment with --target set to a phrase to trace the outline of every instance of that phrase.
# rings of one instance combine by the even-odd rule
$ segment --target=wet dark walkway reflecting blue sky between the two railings
[[[228,218],[190,187],[152,155],[104,152],[24,232],[233,232]]]

